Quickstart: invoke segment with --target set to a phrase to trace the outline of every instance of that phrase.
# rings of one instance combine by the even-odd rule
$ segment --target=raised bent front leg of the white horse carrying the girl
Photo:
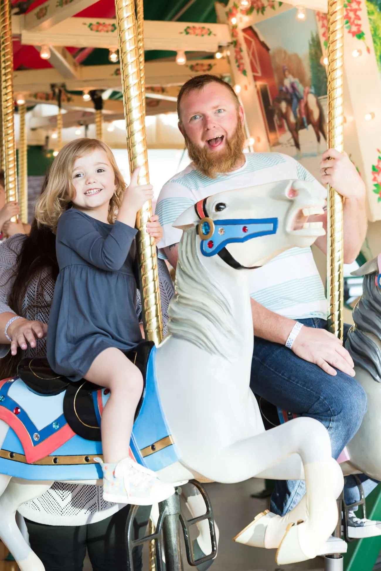
[[[296,512],[296,521],[302,519],[303,523],[288,530],[283,537],[288,523],[294,521],[294,516],[291,514],[288,517],[271,518],[272,538],[283,537],[278,564],[315,557],[330,537],[338,519],[336,497],[343,477],[341,471],[339,475],[339,472],[334,473],[332,470],[331,444],[323,425],[305,417],[295,419],[239,441],[218,455],[203,457],[200,459],[202,469],[192,463],[196,471],[220,482],[242,481],[258,475],[299,480],[302,469],[298,455],[304,468],[306,500]],[[277,464],[278,470],[274,469]],[[222,465],[229,467],[226,471],[228,477],[223,476]],[[262,546],[267,543],[264,536],[267,526],[270,529],[269,521],[270,518],[266,521],[258,520],[258,525],[254,524],[252,528],[256,528],[255,533]]]

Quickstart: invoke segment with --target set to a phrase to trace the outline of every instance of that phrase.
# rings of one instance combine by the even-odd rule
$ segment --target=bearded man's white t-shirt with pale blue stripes
[[[155,211],[163,227],[163,238],[158,244],[161,248],[159,256],[165,258],[162,248],[181,239],[182,231],[173,228],[173,222],[186,208],[207,196],[287,179],[308,180],[315,182],[320,190],[322,188],[290,156],[277,152],[248,153],[245,156],[243,167],[227,175],[217,175],[215,179],[201,174],[191,163],[163,186]],[[327,300],[311,248],[291,248],[262,268],[253,270],[250,295],[267,309],[285,317],[327,318]]]

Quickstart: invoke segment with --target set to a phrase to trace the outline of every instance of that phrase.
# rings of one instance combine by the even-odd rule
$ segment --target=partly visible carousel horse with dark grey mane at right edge
[[[362,472],[381,480],[381,255],[355,272],[364,276],[363,293],[353,310],[346,348],[355,363],[356,380],[367,393],[367,412],[347,444],[348,473]]]

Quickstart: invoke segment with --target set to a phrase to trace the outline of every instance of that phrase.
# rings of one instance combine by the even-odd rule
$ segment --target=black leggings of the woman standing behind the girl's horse
[[[135,538],[143,537],[151,507],[141,507],[135,518]],[[82,571],[87,553],[93,571],[126,571],[125,540],[129,506],[95,524],[66,526],[25,522],[31,549],[41,559],[45,571]],[[134,549],[134,571],[142,569],[142,548]]]

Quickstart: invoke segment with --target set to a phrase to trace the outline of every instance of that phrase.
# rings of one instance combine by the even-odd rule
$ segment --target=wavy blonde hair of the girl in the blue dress
[[[96,149],[105,151],[115,174],[115,192],[110,200],[108,220],[115,222],[117,210],[121,204],[126,183],[115,162],[109,146],[99,139],[76,139],[62,147],[50,167],[49,180],[45,191],[37,200],[35,218],[39,224],[46,224],[55,233],[62,212],[70,208],[75,196],[75,188],[71,182],[74,163],[79,157]]]

